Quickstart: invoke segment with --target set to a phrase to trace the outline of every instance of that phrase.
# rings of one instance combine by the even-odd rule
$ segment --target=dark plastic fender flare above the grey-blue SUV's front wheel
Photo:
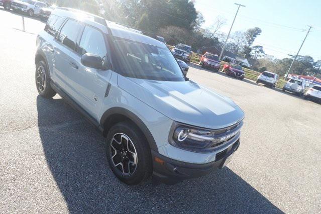
[[[108,120],[108,118],[110,116],[115,115],[115,114],[123,115],[123,116],[129,118],[130,120],[132,120],[145,135],[151,150],[158,152],[158,148],[157,148],[155,139],[154,139],[152,133],[147,128],[147,126],[144,124],[144,122],[137,115],[135,115],[134,113],[132,113],[131,111],[129,111],[127,109],[124,109],[121,107],[113,107],[113,108],[105,111],[103,113],[103,115],[101,116],[101,119],[99,122],[100,126],[104,129],[103,124],[106,122],[106,120]]]

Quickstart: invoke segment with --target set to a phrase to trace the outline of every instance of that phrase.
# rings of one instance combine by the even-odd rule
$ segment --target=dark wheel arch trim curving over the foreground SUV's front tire
[[[106,136],[108,130],[115,125],[116,123],[123,122],[123,121],[132,121],[136,124],[136,126],[142,131],[144,134],[150,149],[158,152],[158,148],[155,142],[155,139],[152,133],[149,131],[145,123],[134,113],[131,111],[121,108],[121,107],[114,107],[106,112],[103,113],[100,119],[100,126],[103,129],[103,135]]]

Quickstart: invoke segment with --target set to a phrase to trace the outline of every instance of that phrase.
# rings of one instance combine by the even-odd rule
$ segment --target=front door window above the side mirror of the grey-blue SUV
[[[80,55],[91,53],[103,58],[106,56],[106,46],[103,35],[100,31],[86,26],[79,43],[78,51]]]

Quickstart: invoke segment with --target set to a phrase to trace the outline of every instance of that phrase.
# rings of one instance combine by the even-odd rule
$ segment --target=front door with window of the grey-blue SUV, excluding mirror
[[[79,101],[81,107],[98,121],[98,112],[112,74],[112,70],[101,70],[81,64],[81,56],[90,53],[101,57],[103,64],[107,56],[106,35],[100,30],[86,25],[77,52],[70,52],[71,61],[78,68],[67,72],[70,94]]]

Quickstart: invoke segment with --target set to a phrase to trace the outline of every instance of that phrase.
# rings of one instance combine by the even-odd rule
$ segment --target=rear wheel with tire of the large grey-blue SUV
[[[38,93],[45,97],[45,98],[51,98],[54,95],[56,95],[56,91],[52,89],[50,85],[50,76],[49,76],[49,70],[48,66],[44,61],[39,61],[36,66],[36,87],[38,90]],[[43,83],[44,81],[44,83]]]

